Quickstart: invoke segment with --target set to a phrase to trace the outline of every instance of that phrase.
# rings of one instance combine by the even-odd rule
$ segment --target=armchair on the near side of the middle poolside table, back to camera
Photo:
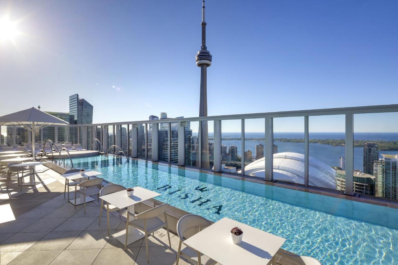
[[[127,221],[126,221],[126,242],[125,242],[125,251],[127,249],[127,236],[129,235],[129,225],[138,228],[141,231],[145,232],[145,248],[146,248],[146,262],[149,263],[149,253],[148,253],[148,236],[155,232],[156,230],[166,227],[167,229],[167,236],[169,238],[169,246],[170,249],[172,244],[170,242],[170,233],[169,233],[169,226],[167,223],[167,215],[166,215],[166,208],[168,207],[167,203],[159,205],[155,208],[149,209],[145,212],[141,212],[140,214],[135,215],[135,213],[127,212]],[[133,215],[135,217],[134,220],[129,221],[129,216]],[[164,214],[163,222],[158,216]]]

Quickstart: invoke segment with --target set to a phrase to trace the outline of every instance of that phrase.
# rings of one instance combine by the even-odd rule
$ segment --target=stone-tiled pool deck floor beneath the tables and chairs
[[[22,192],[16,181],[7,192],[6,179],[0,177],[0,265],[148,264],[143,239],[124,251],[123,244],[107,235],[105,211],[98,225],[97,201],[88,203],[84,214],[82,205],[74,209],[64,199],[64,179],[58,173],[48,170],[39,176],[44,180],[42,185],[23,187]],[[110,229],[111,234],[125,229],[125,217],[113,213]],[[149,264],[175,264],[179,238],[174,234],[170,237],[171,249],[166,230],[149,237]],[[293,264],[281,257],[283,252],[277,253],[276,261],[282,262],[278,264]],[[179,264],[190,263],[180,258]]]

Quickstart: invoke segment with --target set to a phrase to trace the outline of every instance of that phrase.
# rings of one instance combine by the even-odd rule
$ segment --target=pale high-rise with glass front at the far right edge
[[[376,196],[398,199],[398,155],[382,154],[377,165]]]

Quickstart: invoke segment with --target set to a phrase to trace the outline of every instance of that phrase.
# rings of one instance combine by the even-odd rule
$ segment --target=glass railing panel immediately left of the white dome
[[[210,153],[214,149],[209,144]],[[250,151],[251,152],[251,151]],[[247,160],[252,159],[249,152]],[[242,168],[242,120],[221,121],[221,170],[230,173],[241,173]]]

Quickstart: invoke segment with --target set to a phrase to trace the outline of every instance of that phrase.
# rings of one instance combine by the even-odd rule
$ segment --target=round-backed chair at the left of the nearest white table
[[[194,234],[198,233],[201,229],[206,228],[208,226],[211,226],[211,222],[206,218],[196,214],[187,214],[185,216],[182,216],[178,220],[177,235],[179,237],[179,245],[178,245],[176,265],[178,265],[180,255],[191,261],[193,264],[213,265],[217,263],[217,261],[207,257],[206,255],[200,253],[196,249],[186,246],[185,244],[184,244],[185,247],[181,249],[181,245],[183,244],[184,240],[190,238]],[[197,229],[197,227],[199,227],[199,230],[197,230],[196,232],[193,231],[193,229],[191,229],[191,228]],[[190,233],[187,235],[185,232],[187,232],[188,230],[190,230],[189,231]]]

